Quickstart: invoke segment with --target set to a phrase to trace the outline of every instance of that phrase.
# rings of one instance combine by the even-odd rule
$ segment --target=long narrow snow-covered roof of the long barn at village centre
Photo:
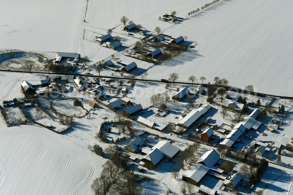
[[[205,114],[212,106],[209,104],[204,104],[199,107],[197,110],[192,110],[189,112],[178,124],[183,124],[184,126],[189,127],[193,122],[199,119],[203,114]]]

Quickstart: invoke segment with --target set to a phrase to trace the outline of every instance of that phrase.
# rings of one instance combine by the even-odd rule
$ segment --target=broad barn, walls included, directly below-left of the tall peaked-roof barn
[[[189,170],[183,173],[182,180],[197,186],[205,177],[208,171],[209,168],[204,165],[192,165]]]

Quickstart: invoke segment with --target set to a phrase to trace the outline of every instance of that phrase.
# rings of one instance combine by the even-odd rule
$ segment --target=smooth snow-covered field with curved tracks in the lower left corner
[[[0,140],[0,194],[90,194],[105,162],[36,126],[1,128]]]

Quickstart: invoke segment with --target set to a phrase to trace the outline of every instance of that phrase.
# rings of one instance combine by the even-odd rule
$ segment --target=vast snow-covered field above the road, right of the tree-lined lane
[[[222,1],[165,34],[198,43],[188,52],[149,70],[150,78],[224,77],[252,84],[258,92],[293,95],[292,1]]]

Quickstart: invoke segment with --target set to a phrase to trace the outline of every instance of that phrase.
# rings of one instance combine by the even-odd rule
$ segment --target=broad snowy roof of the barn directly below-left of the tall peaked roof
[[[200,182],[200,180],[205,177],[208,171],[208,167],[201,164],[195,164],[192,165],[189,170],[185,171],[182,176],[188,177],[195,182]]]

